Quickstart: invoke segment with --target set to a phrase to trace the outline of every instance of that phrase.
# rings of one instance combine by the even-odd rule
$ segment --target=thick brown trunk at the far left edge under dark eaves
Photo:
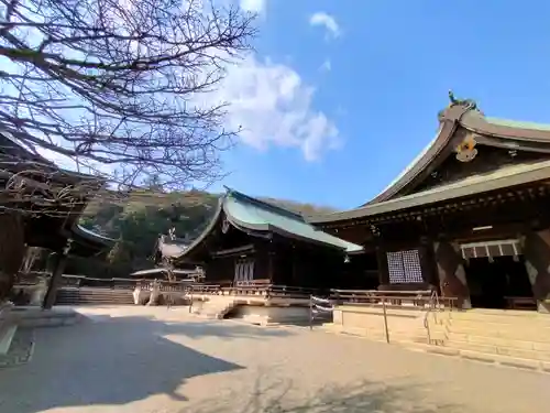
[[[0,214],[0,303],[8,300],[13,280],[23,263],[25,240],[20,215]]]

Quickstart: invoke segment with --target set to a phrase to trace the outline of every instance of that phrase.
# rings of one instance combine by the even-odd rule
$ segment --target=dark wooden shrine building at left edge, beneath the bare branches
[[[9,253],[24,253],[25,247],[51,251],[47,272],[52,276],[43,302],[43,306],[50,308],[55,303],[67,257],[91,257],[114,243],[78,225],[84,209],[105,182],[97,176],[62,170],[18,144],[10,133],[0,132],[0,185],[6,188],[0,211],[2,230],[14,237]],[[19,239],[16,228],[12,227],[18,224],[13,217],[21,219],[23,239]],[[7,262],[3,261],[0,271],[14,275],[19,261],[14,261],[16,268],[8,268],[11,265]],[[11,285],[0,285],[3,296],[10,289]]]

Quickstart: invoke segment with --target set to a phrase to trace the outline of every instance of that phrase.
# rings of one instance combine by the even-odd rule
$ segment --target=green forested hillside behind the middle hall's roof
[[[195,239],[208,225],[218,199],[219,194],[197,189],[164,193],[152,188],[128,197],[95,200],[80,224],[118,241],[106,257],[73,259],[65,272],[125,278],[133,271],[152,268],[151,256],[158,235],[167,233],[174,226],[178,238]],[[262,199],[304,215],[332,211],[290,200]]]

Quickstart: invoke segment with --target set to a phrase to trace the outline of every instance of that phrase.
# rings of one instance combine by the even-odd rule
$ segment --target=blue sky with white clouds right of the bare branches
[[[235,189],[356,207],[433,138],[449,89],[550,123],[549,1],[241,3],[261,18],[256,55],[223,91],[248,102],[230,113],[245,128],[224,155]]]

